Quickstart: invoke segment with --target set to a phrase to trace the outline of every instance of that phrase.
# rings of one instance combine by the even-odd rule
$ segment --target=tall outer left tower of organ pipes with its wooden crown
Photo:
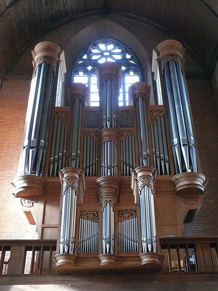
[[[24,137],[22,175],[44,176],[56,64],[61,49],[42,42],[32,52],[35,76],[31,84]]]

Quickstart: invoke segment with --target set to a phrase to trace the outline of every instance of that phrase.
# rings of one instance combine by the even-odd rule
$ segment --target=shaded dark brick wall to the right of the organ
[[[218,235],[218,124],[215,98],[208,80],[188,80],[196,144],[202,174],[209,180],[202,207],[195,221],[185,226],[186,235]]]

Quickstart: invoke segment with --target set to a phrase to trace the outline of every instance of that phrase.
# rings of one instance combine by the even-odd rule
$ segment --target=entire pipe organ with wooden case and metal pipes
[[[137,82],[129,105],[119,107],[121,68],[104,63],[96,68],[99,107],[85,106],[87,87],[81,83],[68,88],[69,106],[55,107],[60,52],[48,42],[35,47],[31,117],[15,195],[48,201],[60,188],[60,176],[59,273],[77,266],[158,271],[158,236],[181,234],[181,219],[199,209],[205,188],[205,177],[197,173],[182,46],[165,41],[154,54],[163,105],[151,105],[150,87]],[[164,219],[162,205],[169,213]],[[177,205],[179,214],[172,216],[170,208]]]

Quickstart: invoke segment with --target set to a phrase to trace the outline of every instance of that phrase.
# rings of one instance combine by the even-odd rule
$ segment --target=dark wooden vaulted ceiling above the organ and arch
[[[208,77],[218,59],[218,0],[0,0],[0,71],[49,32],[90,16],[116,17],[179,40]],[[157,45],[157,44],[156,44]]]

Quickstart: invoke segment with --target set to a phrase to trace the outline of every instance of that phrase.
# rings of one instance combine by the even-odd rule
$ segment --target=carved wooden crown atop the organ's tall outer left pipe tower
[[[37,44],[32,50],[32,57],[35,63],[35,70],[38,65],[42,64],[43,62],[46,62],[47,64],[50,64],[53,68],[54,74],[56,72],[56,65],[59,61],[60,55],[62,50],[59,46],[56,44],[44,41],[39,44]]]

